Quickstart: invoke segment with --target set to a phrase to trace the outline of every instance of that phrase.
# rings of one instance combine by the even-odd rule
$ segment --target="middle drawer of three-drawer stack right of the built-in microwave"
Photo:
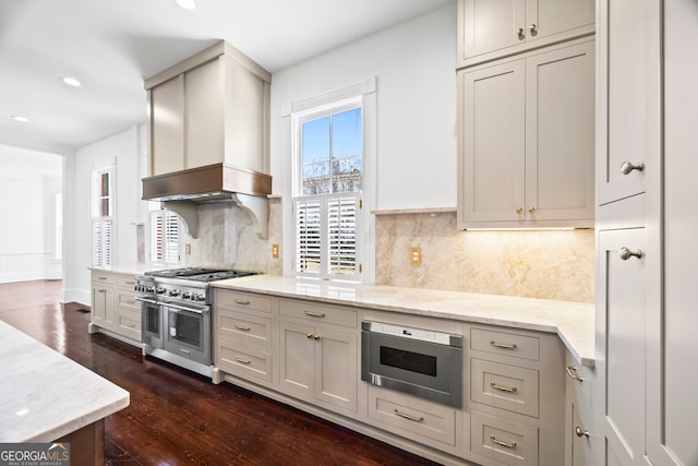
[[[481,359],[470,360],[470,398],[527,416],[539,415],[538,371]]]

